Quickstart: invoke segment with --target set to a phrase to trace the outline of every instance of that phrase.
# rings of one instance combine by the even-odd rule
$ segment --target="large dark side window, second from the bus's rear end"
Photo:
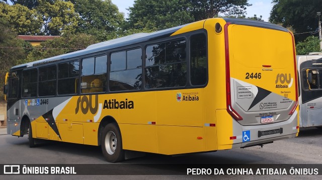
[[[147,46],[145,88],[182,87],[187,82],[186,41]]]

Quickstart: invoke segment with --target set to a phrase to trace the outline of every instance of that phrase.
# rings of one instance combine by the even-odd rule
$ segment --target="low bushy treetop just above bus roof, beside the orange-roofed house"
[[[27,59],[20,63],[27,63],[61,54],[70,53],[86,49],[89,45],[98,43],[94,36],[86,34],[64,34],[60,38],[53,40],[47,40],[40,43],[33,51],[28,55]]]

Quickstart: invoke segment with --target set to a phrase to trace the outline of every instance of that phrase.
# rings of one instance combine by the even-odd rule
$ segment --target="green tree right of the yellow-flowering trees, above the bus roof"
[[[96,36],[100,41],[118,37],[124,15],[111,0],[74,0],[73,3],[81,17],[77,32]]]

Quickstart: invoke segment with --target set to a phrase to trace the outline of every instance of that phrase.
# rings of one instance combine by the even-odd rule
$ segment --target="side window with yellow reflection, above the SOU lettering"
[[[106,71],[106,55],[83,59],[81,79],[82,93],[105,92]]]

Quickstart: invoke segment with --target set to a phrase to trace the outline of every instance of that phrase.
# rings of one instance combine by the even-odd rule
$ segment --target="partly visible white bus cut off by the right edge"
[[[300,127],[322,128],[322,53],[297,56]]]

